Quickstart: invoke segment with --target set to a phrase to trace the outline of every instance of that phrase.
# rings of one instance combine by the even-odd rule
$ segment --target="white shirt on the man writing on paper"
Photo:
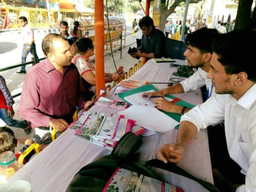
[[[215,95],[215,89],[212,87],[211,79],[207,78],[207,72],[201,68],[198,68],[198,70],[193,75],[184,81],[181,81],[180,83],[184,89],[184,92],[197,90],[203,86],[206,86],[208,90],[208,97]]]

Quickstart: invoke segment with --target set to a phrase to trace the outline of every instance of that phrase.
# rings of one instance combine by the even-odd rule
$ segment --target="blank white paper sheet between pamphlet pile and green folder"
[[[143,127],[150,127],[158,133],[173,130],[174,127],[179,124],[178,121],[170,118],[152,106],[133,105],[124,111],[118,112],[118,114],[124,115],[127,119],[136,120],[136,124]]]

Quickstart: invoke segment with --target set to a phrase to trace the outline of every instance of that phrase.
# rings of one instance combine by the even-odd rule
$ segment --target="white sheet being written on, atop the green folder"
[[[155,90],[150,90],[150,91],[147,91],[147,93],[151,93],[151,92],[154,92]],[[143,92],[140,92],[140,93],[136,93],[136,94],[133,94],[133,95],[130,95],[130,96],[127,96],[127,97],[124,97],[125,100],[129,101],[130,103],[132,103],[133,105],[145,105],[145,106],[156,106],[156,104],[154,103],[154,98],[150,98],[150,99],[147,99],[147,98],[143,98],[141,97]],[[173,99],[171,98],[168,98],[168,97],[164,97],[167,101],[172,101]]]

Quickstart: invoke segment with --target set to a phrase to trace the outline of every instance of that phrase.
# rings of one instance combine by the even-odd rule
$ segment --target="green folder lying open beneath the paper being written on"
[[[130,95],[133,95],[133,94],[136,94],[136,93],[140,93],[140,92],[147,92],[147,91],[150,91],[150,90],[158,91],[158,89],[155,88],[153,86],[153,84],[147,84],[146,86],[142,86],[142,87],[139,87],[139,88],[136,88],[136,89],[133,89],[133,90],[129,90],[129,91],[126,91],[126,92],[123,92],[123,93],[119,93],[118,96],[121,99],[123,99],[124,101],[129,102],[129,101],[125,100],[124,97],[130,96]],[[165,97],[168,97],[168,98],[171,98],[171,99],[175,99],[176,98],[176,97],[174,97],[172,95],[165,95]],[[186,101],[183,101],[183,100],[175,102],[175,104],[180,105],[180,106],[186,106],[187,108],[194,108],[194,106],[195,106],[195,105],[193,105],[191,103],[188,103]],[[175,113],[164,112],[164,111],[161,111],[161,112],[163,112],[164,114],[168,115],[169,117],[172,117],[176,121],[180,122],[181,115],[175,114]]]

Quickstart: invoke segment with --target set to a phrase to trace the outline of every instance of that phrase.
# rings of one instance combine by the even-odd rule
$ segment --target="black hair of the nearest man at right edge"
[[[256,31],[239,29],[219,35],[212,44],[212,50],[227,74],[245,72],[249,80],[256,82],[255,45]]]

